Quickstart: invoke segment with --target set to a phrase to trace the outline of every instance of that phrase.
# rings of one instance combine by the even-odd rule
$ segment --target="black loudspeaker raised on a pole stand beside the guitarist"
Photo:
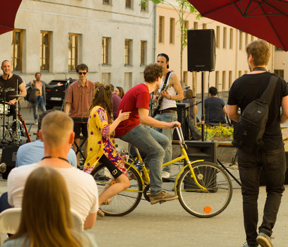
[[[213,29],[187,30],[188,71],[214,71],[216,61]]]

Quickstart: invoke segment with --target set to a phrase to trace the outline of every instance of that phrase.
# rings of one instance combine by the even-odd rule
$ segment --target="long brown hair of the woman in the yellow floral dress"
[[[112,92],[110,85],[104,85],[99,83],[95,86],[95,92],[90,107],[90,111],[96,107],[102,107],[107,112],[108,121],[113,122],[113,104],[112,104]]]

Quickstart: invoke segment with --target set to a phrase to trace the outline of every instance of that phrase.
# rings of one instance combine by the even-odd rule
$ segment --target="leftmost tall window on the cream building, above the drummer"
[[[22,30],[12,32],[11,66],[13,71],[22,70]]]

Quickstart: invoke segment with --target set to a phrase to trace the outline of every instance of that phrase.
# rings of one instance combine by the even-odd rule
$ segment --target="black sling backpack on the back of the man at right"
[[[246,106],[234,126],[232,144],[244,152],[250,153],[263,147],[262,137],[268,121],[269,105],[275,92],[277,79],[275,74],[271,74],[263,95]]]

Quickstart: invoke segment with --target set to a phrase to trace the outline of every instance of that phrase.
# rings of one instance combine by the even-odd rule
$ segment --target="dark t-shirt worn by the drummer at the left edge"
[[[8,79],[7,82],[6,82],[6,80],[4,80],[4,78],[2,76],[0,76],[1,100],[4,97],[5,85],[6,85],[6,102],[15,99],[15,97],[13,97],[13,95],[19,95],[20,90],[19,90],[19,88],[17,88],[17,83],[18,83],[18,87],[20,84],[23,83],[23,80],[22,80],[22,78],[20,78],[20,76],[13,74],[11,76],[11,78]]]

